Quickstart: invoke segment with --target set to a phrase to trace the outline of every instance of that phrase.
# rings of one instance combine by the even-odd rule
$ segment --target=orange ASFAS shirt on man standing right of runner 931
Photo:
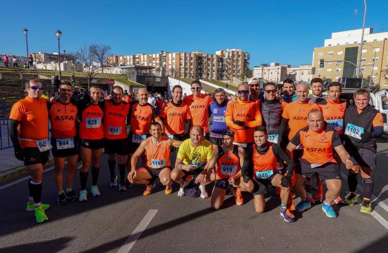
[[[130,131],[135,134],[148,134],[153,119],[160,119],[155,107],[138,101],[130,103]]]

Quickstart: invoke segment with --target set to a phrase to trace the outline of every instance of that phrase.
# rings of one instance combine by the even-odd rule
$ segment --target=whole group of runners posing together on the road
[[[172,184],[176,182],[180,186],[178,196],[193,194],[197,189],[205,199],[209,197],[205,186],[214,182],[210,201],[213,209],[223,206],[227,192],[235,196],[237,205],[244,204],[242,192],[249,192],[256,212],[262,213],[264,195],[272,185],[280,195],[280,215],[285,221],[293,221],[294,210],[305,211],[315,201],[323,202],[326,216],[337,217],[333,204],[342,202],[342,162],[349,170],[350,191],[343,202],[357,202],[360,172],[361,212],[370,213],[375,138],[383,134],[382,114],[369,104],[368,90],[356,91],[354,104],[348,106],[339,98],[339,82],[328,84],[327,97],[322,95],[322,79],[312,79],[311,87],[312,94],[308,95],[306,84],[295,86],[286,79],[284,95],[277,97],[276,83],[267,83],[261,92],[259,80],[252,78],[237,87],[236,99],[227,100],[225,91],[219,88],[213,100],[201,93],[201,83],[194,80],[192,95],[182,99],[182,87],[174,86],[172,100],[158,114],[147,103],[146,88],[139,89],[138,101],[126,103],[119,86],[114,86],[111,97],[104,101],[100,88],[91,86],[88,94],[75,102],[71,99],[71,83],[64,81],[59,98],[48,100],[41,97],[42,82],[30,79],[25,87],[27,97],[16,102],[10,115],[15,156],[24,160],[30,171],[27,210],[35,212],[37,222],[48,220],[45,209],[49,205],[42,204],[41,193],[49,149],[54,157],[60,205],[87,201],[89,170],[90,192],[92,196],[101,194],[97,182],[104,149],[110,186],[118,185],[120,191],[140,184],[145,185],[143,195],[149,195],[159,178],[166,194],[173,192]],[[177,155],[172,166],[174,152]],[[73,182],[79,154],[81,190],[76,194]],[[142,165],[137,166],[139,163]],[[317,185],[315,197],[310,193],[313,179]],[[327,188],[324,197],[323,182]],[[294,194],[301,198],[296,206]]]

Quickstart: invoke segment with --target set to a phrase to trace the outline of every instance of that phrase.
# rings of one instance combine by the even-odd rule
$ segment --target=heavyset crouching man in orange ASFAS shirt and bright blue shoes
[[[347,169],[352,168],[353,162],[343,147],[336,130],[333,126],[323,122],[322,111],[317,109],[309,111],[307,113],[307,123],[308,126],[295,132],[286,149],[291,158],[299,143],[302,144],[304,149],[301,159],[301,174],[296,175],[296,185],[294,186],[295,192],[302,199],[296,206],[296,210],[302,212],[311,207],[309,197],[302,185],[304,178],[312,178],[315,174],[318,174],[322,180],[326,181],[327,186],[322,210],[327,217],[336,218],[337,214],[333,210],[332,204],[341,190],[341,174],[339,164],[333,156],[333,148]]]

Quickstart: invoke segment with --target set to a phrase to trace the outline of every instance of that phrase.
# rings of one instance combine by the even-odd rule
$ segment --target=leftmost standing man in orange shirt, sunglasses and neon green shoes
[[[14,144],[15,157],[23,161],[30,172],[28,188],[30,198],[27,211],[35,211],[37,222],[49,220],[45,209],[50,206],[41,204],[43,166],[48,161],[49,143],[47,104],[42,98],[40,79],[29,79],[26,82],[27,96],[17,101],[11,109],[9,135]],[[20,126],[20,131],[17,127]]]

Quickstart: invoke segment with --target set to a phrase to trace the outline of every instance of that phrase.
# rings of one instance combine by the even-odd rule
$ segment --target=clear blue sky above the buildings
[[[366,27],[388,32],[388,1],[367,2]],[[364,13],[362,0],[18,0],[1,7],[0,53],[26,54],[24,28],[30,52],[56,51],[59,29],[66,52],[93,42],[113,54],[241,48],[251,67],[311,63],[314,47],[331,32],[362,28]]]

